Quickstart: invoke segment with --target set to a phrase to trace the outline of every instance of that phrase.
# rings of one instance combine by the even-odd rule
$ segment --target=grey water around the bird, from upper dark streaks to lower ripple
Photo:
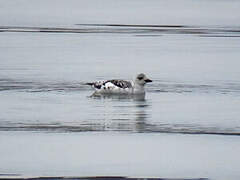
[[[1,131],[240,134],[240,29],[78,24],[1,27]],[[84,83],[153,79],[144,100]]]

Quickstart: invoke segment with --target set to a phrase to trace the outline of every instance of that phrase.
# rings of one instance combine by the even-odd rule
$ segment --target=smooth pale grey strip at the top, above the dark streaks
[[[0,24],[73,26],[78,23],[239,26],[237,0],[1,0]]]

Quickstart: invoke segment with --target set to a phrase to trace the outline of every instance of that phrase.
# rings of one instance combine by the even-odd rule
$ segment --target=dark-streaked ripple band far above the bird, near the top
[[[77,28],[76,28],[77,26]],[[26,33],[111,33],[134,36],[158,36],[164,34],[191,34],[200,37],[240,37],[240,27],[192,26],[157,24],[75,24],[74,27],[21,27],[0,26],[0,32]]]

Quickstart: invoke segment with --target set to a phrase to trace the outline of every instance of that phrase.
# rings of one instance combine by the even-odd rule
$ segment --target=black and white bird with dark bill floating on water
[[[143,73],[138,74],[134,81],[112,79],[86,83],[95,89],[94,94],[145,94],[144,86],[152,82]]]

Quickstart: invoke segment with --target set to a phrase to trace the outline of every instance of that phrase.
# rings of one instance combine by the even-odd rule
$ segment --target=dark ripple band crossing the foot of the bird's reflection
[[[146,117],[139,117],[146,118]],[[240,127],[210,127],[198,124],[150,124],[142,120],[112,119],[110,122],[86,123],[0,123],[0,131],[39,131],[39,132],[133,132],[133,133],[178,133],[240,135]]]

